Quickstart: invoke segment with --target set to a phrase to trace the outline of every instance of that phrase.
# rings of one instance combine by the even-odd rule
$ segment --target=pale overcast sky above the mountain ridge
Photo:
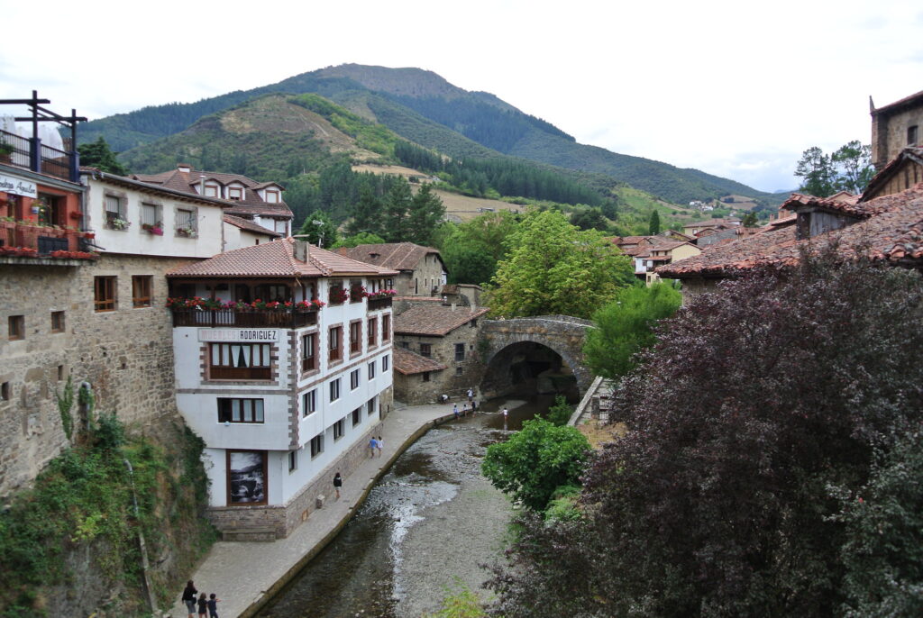
[[[625,5],[625,6],[619,6]],[[324,66],[418,66],[584,144],[773,191],[923,89],[923,3],[4,2],[0,98],[99,118]],[[41,6],[41,8],[38,8]]]

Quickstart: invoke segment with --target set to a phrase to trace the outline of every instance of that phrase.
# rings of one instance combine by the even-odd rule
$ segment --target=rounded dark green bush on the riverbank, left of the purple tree
[[[533,419],[506,442],[487,446],[481,470],[515,502],[542,511],[558,487],[580,484],[590,452],[590,443],[576,427]]]

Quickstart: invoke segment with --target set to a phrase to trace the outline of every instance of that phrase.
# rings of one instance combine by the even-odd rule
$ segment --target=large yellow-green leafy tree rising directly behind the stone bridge
[[[634,279],[629,258],[600,232],[580,232],[554,210],[529,212],[508,242],[487,290],[493,315],[589,317]]]

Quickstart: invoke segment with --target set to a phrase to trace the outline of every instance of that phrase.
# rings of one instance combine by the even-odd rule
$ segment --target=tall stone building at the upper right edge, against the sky
[[[869,97],[869,108],[871,162],[876,170],[881,171],[901,150],[923,145],[923,90],[878,109]]]

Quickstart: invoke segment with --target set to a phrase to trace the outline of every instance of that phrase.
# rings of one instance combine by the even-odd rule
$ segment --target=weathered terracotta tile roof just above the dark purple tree
[[[818,199],[818,198],[811,198]],[[841,256],[856,255],[856,247],[867,246],[874,259],[894,263],[923,259],[923,183],[889,196],[876,197],[860,206],[868,218],[845,228],[797,240],[796,226],[773,226],[765,232],[709,248],[656,272],[661,277],[726,277],[752,267],[790,267],[797,264],[802,247],[821,248],[837,244]],[[920,266],[916,262],[914,266]]]

